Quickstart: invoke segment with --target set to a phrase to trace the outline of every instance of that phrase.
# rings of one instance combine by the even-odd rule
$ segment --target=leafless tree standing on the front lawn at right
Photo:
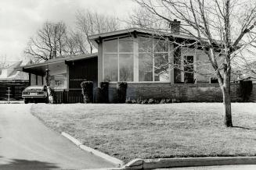
[[[256,5],[250,0],[135,0],[166,20],[184,23],[183,34],[193,37],[207,55],[222,90],[225,126],[232,127],[230,77],[237,51],[255,41]],[[218,39],[219,41],[216,41]]]

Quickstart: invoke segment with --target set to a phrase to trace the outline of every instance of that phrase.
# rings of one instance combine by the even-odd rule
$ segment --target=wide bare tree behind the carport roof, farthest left
[[[43,27],[37,31],[34,37],[31,37],[25,49],[25,54],[34,61],[49,60],[57,55],[65,53],[67,43],[67,27],[65,23],[46,22]]]

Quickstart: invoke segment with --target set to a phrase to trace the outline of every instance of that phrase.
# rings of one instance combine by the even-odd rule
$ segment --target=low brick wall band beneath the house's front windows
[[[233,102],[241,101],[238,88],[239,84],[231,85]],[[126,98],[175,98],[182,102],[222,102],[222,91],[218,84],[209,83],[128,83]],[[109,101],[117,101],[117,83],[110,83]],[[256,101],[256,84],[254,84],[250,101]]]

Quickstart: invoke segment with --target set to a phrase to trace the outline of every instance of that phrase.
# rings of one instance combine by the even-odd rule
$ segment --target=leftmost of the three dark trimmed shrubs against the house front
[[[93,82],[83,81],[81,83],[81,94],[84,97],[84,103],[92,103],[93,101]]]

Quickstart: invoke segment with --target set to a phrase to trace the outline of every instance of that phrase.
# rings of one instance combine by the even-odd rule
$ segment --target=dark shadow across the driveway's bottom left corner
[[[0,157],[1,158],[1,157]],[[44,162],[44,161],[31,161],[31,160],[24,160],[24,159],[11,159],[6,164],[0,164],[0,169],[5,170],[29,170],[29,169],[52,169],[52,168],[59,168],[53,163]]]

